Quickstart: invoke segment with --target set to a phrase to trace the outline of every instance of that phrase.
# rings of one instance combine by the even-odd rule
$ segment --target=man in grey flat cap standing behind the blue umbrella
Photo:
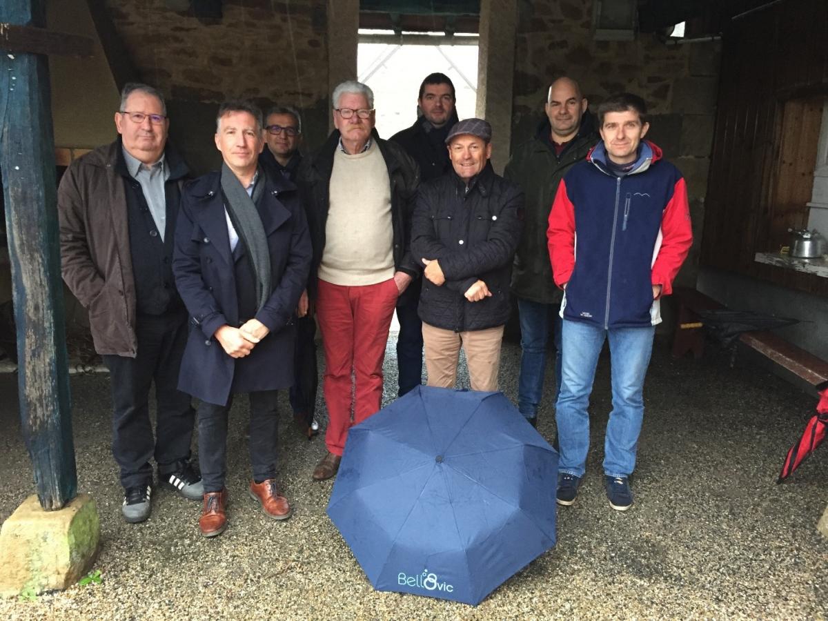
[[[429,386],[454,387],[462,347],[471,388],[498,389],[523,193],[494,173],[491,140],[483,119],[455,124],[445,139],[453,170],[417,196],[412,256],[424,267],[419,314]]]

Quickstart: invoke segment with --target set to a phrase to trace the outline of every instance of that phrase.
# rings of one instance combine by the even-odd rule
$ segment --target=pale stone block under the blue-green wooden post
[[[63,590],[86,574],[98,553],[98,509],[79,494],[60,511],[44,511],[36,496],[0,528],[0,597]]]

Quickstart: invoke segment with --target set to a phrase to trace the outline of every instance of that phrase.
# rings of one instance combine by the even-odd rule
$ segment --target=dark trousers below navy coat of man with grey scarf
[[[253,479],[276,477],[279,416],[276,390],[250,392],[250,464]],[[227,422],[233,397],[227,405],[201,402],[199,405],[199,463],[205,493],[224,489],[227,475]]]

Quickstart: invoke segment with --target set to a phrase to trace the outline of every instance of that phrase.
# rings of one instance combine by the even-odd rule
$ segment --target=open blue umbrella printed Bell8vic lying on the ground
[[[555,545],[557,468],[502,392],[422,386],[350,429],[328,515],[375,589],[479,604]]]

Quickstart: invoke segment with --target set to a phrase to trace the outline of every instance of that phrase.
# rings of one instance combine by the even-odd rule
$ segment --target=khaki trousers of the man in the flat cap
[[[460,347],[466,354],[472,390],[486,392],[498,389],[500,344],[503,343],[503,325],[486,330],[455,332],[422,324],[422,340],[426,346],[428,385],[455,388]]]

